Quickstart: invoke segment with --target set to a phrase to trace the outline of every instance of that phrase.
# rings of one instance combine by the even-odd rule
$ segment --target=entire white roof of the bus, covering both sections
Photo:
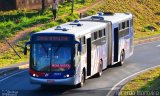
[[[73,34],[75,37],[81,37],[84,34],[98,31],[102,28],[105,28],[107,22],[119,23],[124,20],[131,19],[133,16],[131,13],[99,13],[98,15],[92,15],[85,18],[80,19],[80,21],[75,20],[73,22],[67,22],[60,26],[56,26],[53,28],[49,28],[40,32],[36,32],[34,34],[39,33],[59,33],[59,34]],[[93,20],[96,19],[96,20]],[[94,22],[91,22],[94,21]]]

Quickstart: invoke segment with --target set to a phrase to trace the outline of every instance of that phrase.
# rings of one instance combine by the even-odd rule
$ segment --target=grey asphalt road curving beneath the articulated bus
[[[14,96],[106,96],[108,92],[124,78],[141,70],[160,64],[160,41],[135,46],[134,55],[125,61],[123,66],[114,66],[103,71],[100,78],[86,80],[82,88],[56,86],[49,89],[41,89],[39,85],[29,82],[28,70],[11,74],[0,79],[0,91]],[[119,87],[123,86],[119,85]],[[119,89],[119,88],[117,88]],[[9,96],[8,95],[8,96]],[[12,95],[13,96],[13,95]]]

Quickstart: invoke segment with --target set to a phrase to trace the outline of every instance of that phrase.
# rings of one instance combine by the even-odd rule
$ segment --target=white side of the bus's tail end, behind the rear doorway
[[[123,21],[118,23],[117,30],[114,32],[118,32],[117,38],[118,43],[118,64],[122,65],[124,61],[129,58],[133,54],[133,17],[128,19],[124,19]],[[115,35],[116,35],[115,34]],[[116,39],[115,39],[116,40]],[[116,42],[116,41],[115,41]],[[116,43],[115,43],[116,44]],[[115,51],[116,53],[116,51]]]

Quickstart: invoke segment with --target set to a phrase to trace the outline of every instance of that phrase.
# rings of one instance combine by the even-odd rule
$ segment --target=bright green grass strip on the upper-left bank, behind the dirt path
[[[75,3],[75,9],[88,6],[95,0],[89,0],[82,4]],[[18,31],[32,27],[37,24],[46,24],[52,20],[51,8],[46,9],[44,13],[41,11],[14,10],[8,12],[0,12],[0,40],[4,37],[14,36]],[[63,3],[59,5],[58,16],[71,13],[71,3]],[[70,18],[71,19],[71,18]],[[72,18],[73,20],[73,18]]]

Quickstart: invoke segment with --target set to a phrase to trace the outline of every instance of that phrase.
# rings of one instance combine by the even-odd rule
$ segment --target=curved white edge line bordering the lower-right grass
[[[124,82],[125,80],[127,80],[127,79],[129,79],[129,78],[131,78],[131,77],[134,77],[134,76],[136,76],[136,75],[138,75],[138,74],[140,74],[140,73],[143,73],[143,72],[145,72],[145,71],[147,71],[147,70],[150,70],[150,69],[154,69],[154,68],[156,68],[156,67],[159,67],[159,66],[160,66],[160,65],[157,65],[157,66],[154,66],[154,67],[147,68],[147,69],[145,69],[145,70],[136,72],[136,73],[134,73],[134,74],[132,74],[132,75],[130,75],[130,76],[128,76],[128,77],[122,79],[120,82],[118,82],[117,84],[115,84],[115,85],[112,87],[112,89],[109,91],[109,93],[108,93],[106,96],[110,96],[111,92],[112,92],[113,90],[115,90],[116,87],[117,87],[118,85],[120,85],[122,82]]]

